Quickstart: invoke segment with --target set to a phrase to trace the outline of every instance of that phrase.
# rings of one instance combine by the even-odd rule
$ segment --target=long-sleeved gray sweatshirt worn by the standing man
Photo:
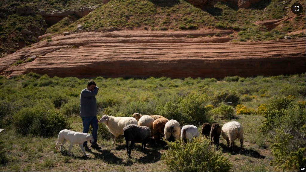
[[[97,99],[95,95],[98,94],[98,88],[94,91],[89,91],[87,88],[82,90],[80,96],[80,116],[81,117],[95,117],[97,116]]]

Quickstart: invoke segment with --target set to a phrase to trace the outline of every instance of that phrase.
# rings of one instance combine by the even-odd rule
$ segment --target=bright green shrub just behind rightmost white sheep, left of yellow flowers
[[[211,110],[216,118],[232,119],[234,118],[234,108],[232,106],[221,103],[219,107]]]

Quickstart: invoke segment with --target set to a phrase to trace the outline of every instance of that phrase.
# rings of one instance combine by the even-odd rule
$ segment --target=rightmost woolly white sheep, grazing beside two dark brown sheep
[[[227,148],[231,148],[234,150],[235,141],[237,138],[240,140],[241,148],[243,145],[243,129],[242,125],[239,122],[232,121],[224,124],[222,126],[221,131],[222,137],[227,141]]]

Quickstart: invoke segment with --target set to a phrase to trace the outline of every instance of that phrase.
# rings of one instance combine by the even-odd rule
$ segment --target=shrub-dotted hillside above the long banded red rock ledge
[[[297,2],[305,6],[304,1]],[[232,42],[284,39],[289,32],[305,29],[305,11],[282,21],[272,30],[255,25],[254,22],[286,17],[291,14],[290,7],[293,3],[262,0],[248,9],[239,9],[230,2],[217,2],[213,7],[200,9],[183,0],[112,0],[104,5],[98,0],[3,0],[0,2],[0,58],[37,42],[38,36],[44,33],[75,32],[78,24],[83,26],[83,30],[78,32],[231,29],[236,31],[230,35],[233,37]],[[48,26],[37,15],[39,9],[51,12],[88,6],[98,8],[83,18],[67,16],[52,26]],[[21,29],[27,29],[32,34],[21,34]],[[305,33],[292,36],[296,37],[305,37]]]

